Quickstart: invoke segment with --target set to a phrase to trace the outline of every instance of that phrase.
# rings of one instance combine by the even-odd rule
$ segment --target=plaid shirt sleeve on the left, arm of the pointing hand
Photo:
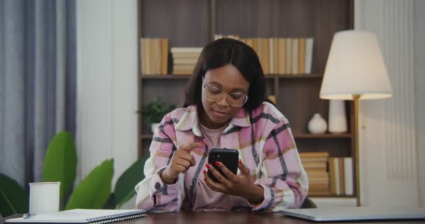
[[[174,137],[174,138],[173,138]],[[175,131],[171,116],[166,116],[155,130],[150,145],[150,158],[145,162],[145,179],[135,187],[136,207],[147,211],[179,211],[182,199],[184,177],[180,174],[178,181],[166,184],[161,179],[161,173],[170,162],[176,148],[171,139],[175,139]]]

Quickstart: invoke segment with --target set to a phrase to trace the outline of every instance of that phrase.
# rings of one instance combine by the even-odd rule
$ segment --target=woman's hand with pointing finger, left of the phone
[[[161,173],[161,179],[166,184],[175,183],[178,178],[178,174],[185,174],[187,169],[193,167],[195,165],[195,158],[190,152],[194,148],[199,148],[203,146],[203,142],[194,142],[187,146],[180,146],[177,151],[174,152],[173,158],[171,158],[171,162],[164,169],[164,172]]]

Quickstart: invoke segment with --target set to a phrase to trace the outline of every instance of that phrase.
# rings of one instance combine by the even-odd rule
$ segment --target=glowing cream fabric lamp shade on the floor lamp
[[[391,97],[391,84],[375,34],[339,31],[333,36],[320,98],[380,99]]]

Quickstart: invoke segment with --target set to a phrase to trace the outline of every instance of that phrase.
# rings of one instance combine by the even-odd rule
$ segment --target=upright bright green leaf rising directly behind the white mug
[[[77,151],[69,132],[59,132],[50,141],[43,165],[44,181],[61,182],[60,197],[69,193],[77,172]]]

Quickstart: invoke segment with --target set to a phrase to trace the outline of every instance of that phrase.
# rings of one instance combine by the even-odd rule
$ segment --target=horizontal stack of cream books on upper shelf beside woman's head
[[[173,55],[173,75],[192,73],[202,48],[171,48]]]

